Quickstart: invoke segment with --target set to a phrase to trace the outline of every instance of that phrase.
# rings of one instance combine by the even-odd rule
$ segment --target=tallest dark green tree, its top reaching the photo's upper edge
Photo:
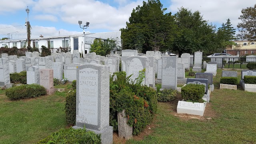
[[[133,9],[126,28],[120,29],[124,49],[166,51],[172,46],[177,26],[162,7],[160,0],[148,0]]]

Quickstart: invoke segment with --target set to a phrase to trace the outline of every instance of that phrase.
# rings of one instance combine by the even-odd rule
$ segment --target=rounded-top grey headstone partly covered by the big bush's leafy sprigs
[[[145,78],[143,78],[141,84],[149,86],[148,58],[145,56],[130,56],[126,58],[126,77],[132,74],[130,79],[135,81],[135,83],[137,82],[136,78],[139,77],[140,71],[144,68],[146,69]]]

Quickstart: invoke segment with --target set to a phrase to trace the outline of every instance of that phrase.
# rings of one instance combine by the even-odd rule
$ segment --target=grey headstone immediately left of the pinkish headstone
[[[26,71],[27,71],[27,84],[40,84],[38,66],[27,66]]]

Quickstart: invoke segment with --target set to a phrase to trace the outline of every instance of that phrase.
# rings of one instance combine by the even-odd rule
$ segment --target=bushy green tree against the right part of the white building
[[[90,52],[106,56],[107,54],[110,54],[110,51],[113,50],[114,47],[116,47],[115,40],[109,38],[107,40],[95,39],[93,44],[91,44]]]

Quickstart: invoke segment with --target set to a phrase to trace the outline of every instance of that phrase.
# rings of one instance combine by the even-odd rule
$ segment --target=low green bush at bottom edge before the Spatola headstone
[[[58,132],[54,132],[38,144],[101,144],[100,134],[88,131],[86,128],[62,128]]]

